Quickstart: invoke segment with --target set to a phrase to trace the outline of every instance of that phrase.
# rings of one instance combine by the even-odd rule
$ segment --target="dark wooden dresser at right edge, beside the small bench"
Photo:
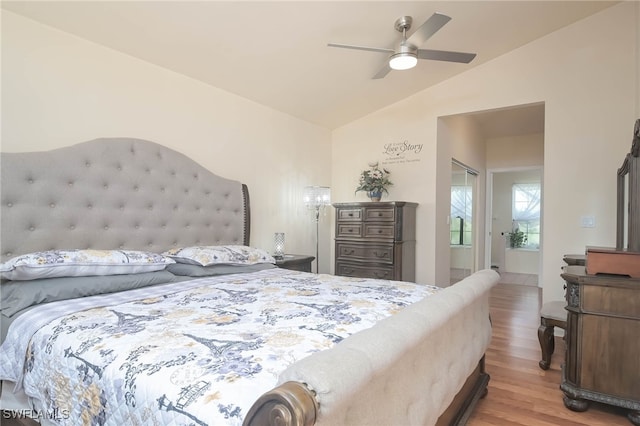
[[[560,389],[564,404],[584,411],[589,401],[629,410],[640,426],[640,279],[587,275],[567,266],[567,352]]]

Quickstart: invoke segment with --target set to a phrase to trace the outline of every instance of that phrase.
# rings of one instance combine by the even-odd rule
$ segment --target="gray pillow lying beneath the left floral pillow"
[[[0,312],[10,317],[40,303],[114,293],[183,280],[164,270],[140,274],[4,281],[0,284]]]

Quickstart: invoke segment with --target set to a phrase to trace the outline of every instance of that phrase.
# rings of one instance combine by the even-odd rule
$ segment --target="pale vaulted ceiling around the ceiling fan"
[[[615,4],[613,1],[2,1],[2,8],[333,129]],[[371,77],[403,15],[452,20],[423,46],[477,53]],[[409,35],[411,34],[409,31]],[[478,117],[478,119],[481,117]]]

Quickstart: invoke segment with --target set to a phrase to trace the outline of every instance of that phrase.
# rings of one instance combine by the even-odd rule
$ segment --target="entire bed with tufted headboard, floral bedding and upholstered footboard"
[[[491,270],[438,288],[276,268],[247,187],[149,141],[1,168],[5,418],[464,424],[486,393]]]

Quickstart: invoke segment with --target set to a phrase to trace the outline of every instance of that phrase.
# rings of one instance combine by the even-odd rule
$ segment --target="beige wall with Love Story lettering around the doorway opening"
[[[420,203],[417,281],[446,285],[442,277],[448,272],[438,271],[448,263],[438,262],[436,253],[448,253],[448,245],[436,244],[434,230],[446,224],[448,213],[436,211],[435,204],[448,182],[435,177],[438,169],[449,167],[453,152],[438,144],[438,118],[544,102],[541,282],[545,300],[561,299],[563,254],[615,244],[614,177],[640,116],[638,7],[636,2],[612,6],[335,130],[336,198],[355,198],[361,163],[380,158],[385,142],[423,144],[419,162],[393,169],[398,184],[390,198]],[[439,149],[449,152],[440,155]],[[596,217],[595,228],[580,227],[585,214]]]

